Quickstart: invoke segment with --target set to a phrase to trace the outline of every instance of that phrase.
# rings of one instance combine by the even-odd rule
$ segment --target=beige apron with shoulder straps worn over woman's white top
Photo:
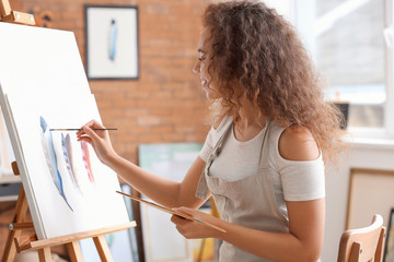
[[[268,136],[270,132],[282,132],[283,129],[267,128],[263,139],[259,168],[255,175],[236,180],[223,181],[220,178],[209,176],[209,168],[218,157],[222,146],[232,132],[232,126],[219,139],[212,154],[209,156],[205,170],[199,180],[196,196],[206,199],[208,190],[215,199],[220,217],[229,223],[254,228],[263,231],[288,233],[288,218],[280,212],[274,193],[271,176],[268,172]],[[219,251],[220,262],[263,262],[269,261],[243,251],[231,243],[223,242]]]

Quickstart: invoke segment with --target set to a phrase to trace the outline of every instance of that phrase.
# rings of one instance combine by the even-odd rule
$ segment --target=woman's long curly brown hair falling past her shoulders
[[[207,67],[219,83],[222,114],[233,115],[236,123],[246,95],[257,114],[280,127],[310,130],[324,160],[335,160],[344,147],[341,114],[324,100],[320,76],[293,26],[253,0],[211,3],[202,25],[210,33]],[[234,79],[242,92],[231,84]]]

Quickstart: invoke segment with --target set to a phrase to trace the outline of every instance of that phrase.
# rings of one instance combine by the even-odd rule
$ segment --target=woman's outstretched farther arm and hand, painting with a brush
[[[78,140],[90,143],[100,160],[114,169],[135,189],[167,207],[183,205],[196,209],[205,202],[194,195],[205,167],[205,162],[200,157],[197,157],[193,163],[182,182],[172,181],[150,174],[120,157],[112,146],[108,132],[92,130],[94,128],[105,127],[92,120],[82,127],[82,131],[77,133]]]

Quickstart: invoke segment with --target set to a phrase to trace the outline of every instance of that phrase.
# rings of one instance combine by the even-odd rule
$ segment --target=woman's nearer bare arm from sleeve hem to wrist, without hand
[[[273,261],[317,261],[323,247],[324,199],[287,202],[289,234],[265,233],[223,225],[219,237],[247,252]]]

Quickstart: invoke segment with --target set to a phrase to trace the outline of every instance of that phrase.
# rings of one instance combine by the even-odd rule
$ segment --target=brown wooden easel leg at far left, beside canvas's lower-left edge
[[[21,187],[21,191],[16,201],[15,215],[12,223],[23,222],[27,212],[27,201],[23,187]],[[14,242],[14,238],[20,237],[22,230],[10,230],[7,237],[4,253],[2,255],[1,262],[12,262],[14,261],[16,254],[16,247]]]

